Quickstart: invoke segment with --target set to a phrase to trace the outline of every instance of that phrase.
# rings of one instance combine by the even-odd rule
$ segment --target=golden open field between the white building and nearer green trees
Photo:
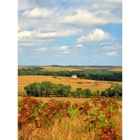
[[[72,87],[72,91],[75,91],[76,88],[86,89],[89,88],[91,91],[103,91],[110,87],[112,83],[122,82],[112,82],[112,81],[95,81],[95,80],[87,80],[87,79],[72,79],[71,77],[61,77],[61,76],[18,76],[18,94],[25,95],[26,92],[24,87],[30,83],[38,82],[41,83],[43,81],[49,81],[54,84],[63,84],[70,85]]]

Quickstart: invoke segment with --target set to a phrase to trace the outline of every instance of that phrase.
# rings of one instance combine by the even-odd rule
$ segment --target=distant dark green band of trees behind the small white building
[[[40,71],[36,69],[18,69],[18,75],[68,76],[76,74],[79,78],[104,81],[122,81],[121,71],[83,70],[83,71]]]

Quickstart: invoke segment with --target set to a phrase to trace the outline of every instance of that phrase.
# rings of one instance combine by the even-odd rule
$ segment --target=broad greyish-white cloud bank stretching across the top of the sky
[[[19,12],[19,25],[25,26],[25,28],[29,26],[43,27],[49,23],[53,26],[68,25],[80,28],[87,25],[121,23],[121,7],[116,4],[110,5],[110,2],[102,3],[97,0],[90,3],[80,2],[81,6],[72,3],[69,7],[57,5],[50,8],[47,5],[43,7],[38,5],[33,9]]]

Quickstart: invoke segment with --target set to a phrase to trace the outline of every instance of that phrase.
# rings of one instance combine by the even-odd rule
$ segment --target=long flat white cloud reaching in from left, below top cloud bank
[[[33,30],[33,31],[20,31],[18,33],[18,44],[19,46],[37,46],[43,42],[53,41],[56,37],[66,37],[70,35],[75,35],[80,30],[78,29],[61,29],[58,28],[55,31],[47,31],[44,29]]]

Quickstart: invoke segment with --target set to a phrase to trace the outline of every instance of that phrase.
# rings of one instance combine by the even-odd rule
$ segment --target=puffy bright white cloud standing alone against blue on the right
[[[110,39],[113,39],[113,37],[109,33],[104,32],[102,29],[96,28],[95,30],[92,30],[87,36],[78,38],[77,42],[81,43],[85,41],[103,41]]]

